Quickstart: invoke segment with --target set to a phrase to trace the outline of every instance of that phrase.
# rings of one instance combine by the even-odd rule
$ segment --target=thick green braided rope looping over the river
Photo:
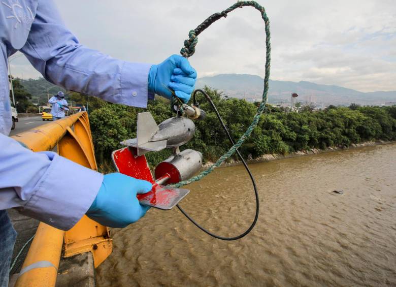
[[[254,127],[257,125],[258,120],[260,119],[260,116],[262,112],[266,109],[266,103],[267,103],[267,94],[268,94],[268,89],[269,89],[269,79],[270,79],[270,63],[271,63],[271,34],[270,34],[270,20],[268,19],[266,10],[260,6],[258,3],[254,1],[240,1],[235,3],[233,6],[229,7],[228,9],[220,12],[220,13],[215,13],[208,17],[204,22],[202,22],[201,25],[197,26],[194,30],[190,30],[188,33],[188,40],[184,41],[184,47],[181,49],[180,54],[183,57],[190,57],[194,54],[195,52],[195,46],[198,42],[197,36],[201,34],[203,30],[205,30],[207,27],[209,27],[213,22],[217,21],[218,19],[222,17],[226,17],[227,13],[235,10],[236,8],[242,8],[244,6],[251,6],[257,9],[258,11],[261,12],[261,17],[264,20],[266,24],[266,75],[264,77],[264,90],[262,92],[262,101],[260,106],[257,109],[257,113],[255,114],[252,123],[246,130],[246,132],[242,135],[242,137],[238,140],[238,142],[230,148],[225,154],[223,154],[216,163],[214,163],[212,166],[210,166],[208,169],[205,171],[201,172],[199,175],[194,176],[188,180],[180,181],[176,184],[173,184],[172,186],[174,187],[181,187],[183,185],[192,183],[194,181],[198,181],[201,178],[205,177],[206,175],[210,174],[216,167],[220,166],[222,163],[224,163],[227,158],[232,156],[237,148],[239,148],[243,142],[250,136],[252,133]]]

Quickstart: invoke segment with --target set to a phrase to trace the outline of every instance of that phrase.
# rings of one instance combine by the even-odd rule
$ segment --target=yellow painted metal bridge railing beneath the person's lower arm
[[[57,146],[59,155],[97,170],[86,112],[41,125],[12,138],[32,151],[52,150]],[[95,268],[113,248],[109,229],[85,215],[65,232],[40,222],[15,286],[55,286],[63,239],[64,257],[92,252]]]

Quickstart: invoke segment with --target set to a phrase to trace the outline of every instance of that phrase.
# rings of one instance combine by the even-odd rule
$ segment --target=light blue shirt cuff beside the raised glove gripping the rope
[[[147,108],[147,100],[153,97],[148,91],[148,74],[152,64],[124,62],[121,72],[122,104]]]

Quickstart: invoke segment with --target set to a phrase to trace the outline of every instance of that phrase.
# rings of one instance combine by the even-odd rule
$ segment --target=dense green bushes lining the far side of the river
[[[217,106],[230,134],[237,140],[243,135],[256,112],[256,105],[245,100],[224,97],[217,90],[205,88]],[[194,138],[183,146],[204,154],[205,160],[215,161],[226,152],[229,143],[209,103],[199,97],[201,108],[207,117],[196,121]],[[148,104],[159,124],[172,117],[169,101],[158,98]],[[143,109],[101,104],[90,113],[90,123],[98,162],[110,158],[111,152],[120,148],[119,142],[136,136],[136,119]],[[308,148],[349,146],[369,140],[396,139],[396,106],[348,107],[329,106],[313,111],[303,108],[300,113],[268,106],[252,135],[240,151],[244,156],[258,157],[266,153],[289,153]],[[170,151],[149,153],[148,160],[157,164],[171,154]]]

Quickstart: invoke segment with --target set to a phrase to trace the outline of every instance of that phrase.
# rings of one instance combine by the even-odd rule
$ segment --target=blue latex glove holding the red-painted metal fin
[[[121,173],[106,174],[87,216],[108,227],[122,228],[138,221],[149,206],[141,205],[137,194],[145,194],[152,188],[146,180]]]

